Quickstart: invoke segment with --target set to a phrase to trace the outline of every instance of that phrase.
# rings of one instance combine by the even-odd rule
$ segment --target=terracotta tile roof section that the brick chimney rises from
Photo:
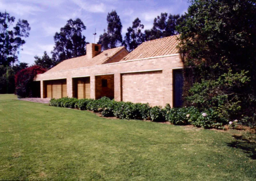
[[[114,57],[117,53],[119,53],[122,50],[125,50],[124,46],[102,51],[99,55],[93,57],[92,59],[88,59],[86,55],[72,59],[67,59],[60,62],[55,67],[52,67],[45,73],[101,65],[108,62],[108,60],[110,60],[112,57]],[[105,55],[106,53],[108,53],[108,56]]]

